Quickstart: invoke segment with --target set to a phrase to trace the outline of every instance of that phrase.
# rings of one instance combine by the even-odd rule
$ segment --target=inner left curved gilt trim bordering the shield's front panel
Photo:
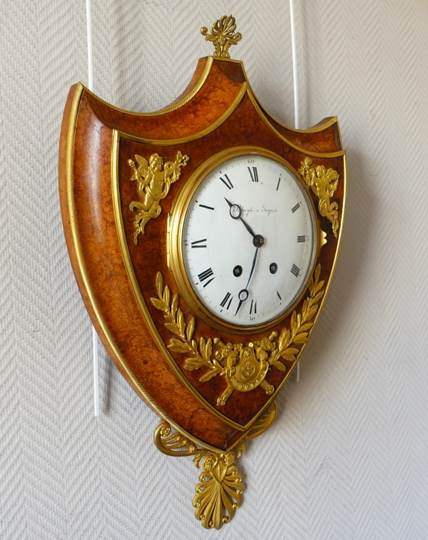
[[[168,362],[168,365],[170,365],[175,375],[178,377],[178,379],[184,385],[184,387],[188,389],[188,392],[190,392],[190,394],[192,394],[193,397],[198,399],[198,402],[200,402],[200,404],[202,404],[205,409],[207,409],[211,414],[213,414],[213,416],[217,417],[222,422],[225,422],[225,424],[228,424],[230,427],[238,429],[239,431],[243,431],[246,428],[246,426],[242,426],[241,424],[238,424],[238,422],[233,422],[233,420],[230,420],[228,417],[225,417],[224,414],[221,414],[220,412],[218,412],[217,409],[215,409],[210,403],[206,401],[206,399],[204,399],[198,392],[196,392],[196,390],[190,384],[188,379],[181,372],[180,368],[176,364],[173,357],[170,355],[170,352],[165,346],[165,343],[163,342],[162,337],[159,334],[156,328],[156,325],[154,324],[151,318],[150,313],[148,312],[148,308],[143,298],[143,295],[141,293],[140,285],[138,285],[136,272],[133,268],[133,264],[131,261],[131,254],[129,253],[128,244],[126,242],[125,227],[123,225],[123,217],[121,213],[121,194],[119,193],[119,178],[118,178],[120,138],[121,138],[121,132],[117,130],[113,130],[112,148],[111,148],[111,190],[112,190],[112,199],[113,199],[113,211],[114,211],[114,218],[116,222],[116,231],[118,233],[118,242],[121,247],[123,265],[125,265],[126,273],[128,274],[128,279],[129,279],[129,282],[131,283],[131,288],[133,290],[134,296],[136,297],[138,307],[140,308],[141,314],[143,315],[143,318],[146,321],[146,325],[148,327],[149,332],[151,333],[153,337],[153,340],[155,341],[156,345],[159,347],[159,350],[161,350],[163,357],[165,357],[165,360]],[[162,414],[161,416],[165,417]],[[183,431],[183,429],[181,429],[181,431]],[[194,437],[193,438],[189,437],[189,438],[194,440]]]

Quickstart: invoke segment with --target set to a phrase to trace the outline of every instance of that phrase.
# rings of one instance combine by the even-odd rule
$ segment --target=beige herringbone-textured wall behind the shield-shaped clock
[[[295,0],[301,127],[337,115],[349,164],[342,251],[301,382],[240,460],[220,532],[193,517],[190,458],[100,357],[68,261],[57,153],[68,88],[87,83],[83,0],[1,2],[1,539],[428,538],[428,3]],[[232,13],[266,108],[292,125],[286,0],[93,0],[94,89],[153,111],[200,36]]]

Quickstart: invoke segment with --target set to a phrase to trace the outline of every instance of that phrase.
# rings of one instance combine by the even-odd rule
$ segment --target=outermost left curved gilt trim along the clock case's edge
[[[143,399],[146,402],[148,402],[148,404],[150,404],[153,410],[155,410],[161,418],[165,418],[168,421],[168,423],[170,423],[175,429],[185,432],[183,428],[179,427],[178,424],[176,424],[173,421],[173,419],[171,419],[168,416],[168,414],[165,414],[163,409],[161,409],[161,407],[159,407],[158,404],[156,404],[156,402],[152,399],[151,395],[148,394],[148,392],[146,392],[146,389],[144,389],[143,385],[141,384],[139,379],[136,377],[133,370],[131,370],[131,367],[129,367],[128,362],[126,362],[125,358],[123,357],[121,351],[118,348],[116,340],[114,340],[113,335],[111,335],[111,332],[108,329],[106,320],[104,320],[103,314],[101,313],[100,307],[98,305],[98,301],[96,300],[96,296],[93,292],[91,279],[88,275],[86,263],[83,258],[83,251],[81,247],[80,236],[78,233],[78,224],[77,224],[77,218],[76,218],[76,204],[74,201],[74,180],[73,180],[74,133],[76,131],[78,106],[81,100],[82,93],[83,93],[83,86],[79,83],[74,93],[73,101],[71,103],[71,111],[70,111],[70,116],[68,118],[68,133],[67,133],[67,148],[66,148],[66,185],[67,185],[68,215],[70,218],[71,235],[73,237],[74,250],[76,251],[78,268],[81,272],[81,277],[83,279],[86,292],[88,293],[88,298],[91,302],[93,312],[95,313],[96,319],[98,320],[98,324],[100,325],[101,330],[103,331],[103,334],[106,337],[106,340],[108,341],[108,345],[110,345],[111,349],[116,355],[118,362],[121,364],[121,366],[123,367],[123,370],[126,372],[126,375],[128,375],[128,377],[131,379],[134,386],[138,390],[139,394],[141,394],[141,397],[143,397]],[[240,429],[242,429],[242,427],[240,427]],[[198,437],[193,437],[193,435],[191,435],[188,432],[185,432],[185,434],[190,440],[192,440],[196,444],[200,444],[201,446],[211,449],[214,452],[218,450],[217,448],[212,447],[210,444],[200,441]]]

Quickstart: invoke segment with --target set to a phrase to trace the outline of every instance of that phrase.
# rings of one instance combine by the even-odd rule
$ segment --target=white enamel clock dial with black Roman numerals
[[[203,178],[183,225],[183,263],[208,312],[264,325],[300,297],[315,261],[315,215],[295,175],[266,156],[224,161]]]

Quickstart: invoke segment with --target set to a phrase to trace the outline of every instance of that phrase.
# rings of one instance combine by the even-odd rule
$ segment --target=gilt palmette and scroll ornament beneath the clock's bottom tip
[[[180,432],[171,434],[168,422],[161,422],[156,428],[153,439],[156,448],[168,456],[194,456],[193,462],[200,469],[202,461],[203,472],[193,496],[195,518],[205,529],[220,529],[233,518],[240,504],[243,493],[242,479],[235,467],[235,459],[242,455],[244,442],[258,437],[266,431],[277,414],[275,402],[270,404],[258,421],[250,427],[235,443],[233,450],[227,452],[210,452],[205,448],[198,449]],[[185,449],[187,448],[187,449]]]

